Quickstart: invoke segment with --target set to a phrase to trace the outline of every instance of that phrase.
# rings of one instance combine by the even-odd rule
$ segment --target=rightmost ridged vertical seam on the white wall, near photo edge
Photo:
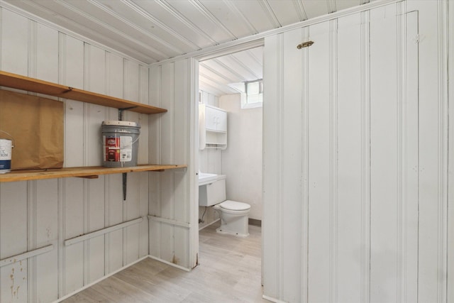
[[[448,198],[448,1],[437,1],[438,15],[438,302],[445,302],[447,295],[446,264],[447,198]],[[445,38],[446,37],[446,38]]]

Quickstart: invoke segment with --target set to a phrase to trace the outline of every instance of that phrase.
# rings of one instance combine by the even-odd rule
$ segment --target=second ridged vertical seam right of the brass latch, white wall
[[[361,302],[370,302],[370,12],[361,12]]]

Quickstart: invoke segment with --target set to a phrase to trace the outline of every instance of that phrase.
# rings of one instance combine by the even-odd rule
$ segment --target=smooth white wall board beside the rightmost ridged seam
[[[438,4],[438,1],[437,1]],[[437,4],[409,2],[408,10],[419,11],[419,302],[438,299],[441,252],[439,172],[441,169],[440,104],[438,92],[438,10]],[[443,270],[442,270],[443,271]]]

